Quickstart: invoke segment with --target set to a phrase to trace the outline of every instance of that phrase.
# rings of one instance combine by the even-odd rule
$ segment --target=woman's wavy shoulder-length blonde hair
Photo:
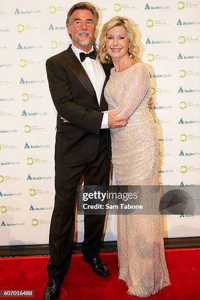
[[[107,53],[105,42],[106,42],[106,35],[108,30],[115,26],[125,27],[129,39],[128,50],[135,60],[139,60],[140,49],[136,44],[136,34],[133,30],[133,25],[130,23],[130,21],[127,18],[122,16],[116,16],[110,19],[108,22],[106,22],[102,27],[101,34],[100,34],[99,50],[98,50],[98,57],[100,61],[103,63],[112,62],[112,58]],[[106,58],[106,56],[108,56],[108,58]]]

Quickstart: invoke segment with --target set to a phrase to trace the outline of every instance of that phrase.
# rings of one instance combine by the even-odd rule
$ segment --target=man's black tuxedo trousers
[[[80,149],[81,151],[81,149]],[[50,278],[61,279],[69,269],[74,240],[77,185],[84,175],[85,185],[109,185],[110,158],[106,132],[101,130],[96,159],[89,163],[55,163],[55,203],[50,223]],[[84,216],[84,241],[81,250],[88,258],[99,255],[105,215]]]

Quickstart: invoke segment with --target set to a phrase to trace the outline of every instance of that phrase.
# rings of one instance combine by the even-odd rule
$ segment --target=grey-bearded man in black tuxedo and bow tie
[[[45,300],[59,298],[59,289],[72,257],[77,185],[109,185],[110,132],[127,124],[120,109],[108,109],[103,91],[110,66],[96,59],[94,32],[99,15],[89,2],[75,4],[66,21],[73,44],[47,60],[50,94],[58,112],[55,142],[55,203],[50,224],[49,282]],[[62,117],[62,119],[61,119]],[[63,119],[68,122],[63,122]],[[108,276],[100,259],[105,215],[84,216],[83,259],[93,271]]]

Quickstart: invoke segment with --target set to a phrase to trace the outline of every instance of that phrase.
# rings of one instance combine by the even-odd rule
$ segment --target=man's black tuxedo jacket
[[[100,134],[106,135],[108,155],[111,154],[110,131],[100,129],[101,111],[108,109],[103,92],[111,66],[102,64],[102,67],[106,78],[99,105],[94,87],[71,45],[46,62],[50,94],[58,112],[55,141],[57,162],[93,161],[99,149]],[[70,123],[63,123],[60,116]]]

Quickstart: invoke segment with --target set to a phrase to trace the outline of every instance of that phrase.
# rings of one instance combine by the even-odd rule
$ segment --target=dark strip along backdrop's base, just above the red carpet
[[[73,245],[73,253],[81,253],[80,243]],[[165,249],[200,247],[200,237],[164,239]],[[103,242],[101,252],[117,251],[117,242]],[[0,256],[47,255],[48,245],[1,246]]]

